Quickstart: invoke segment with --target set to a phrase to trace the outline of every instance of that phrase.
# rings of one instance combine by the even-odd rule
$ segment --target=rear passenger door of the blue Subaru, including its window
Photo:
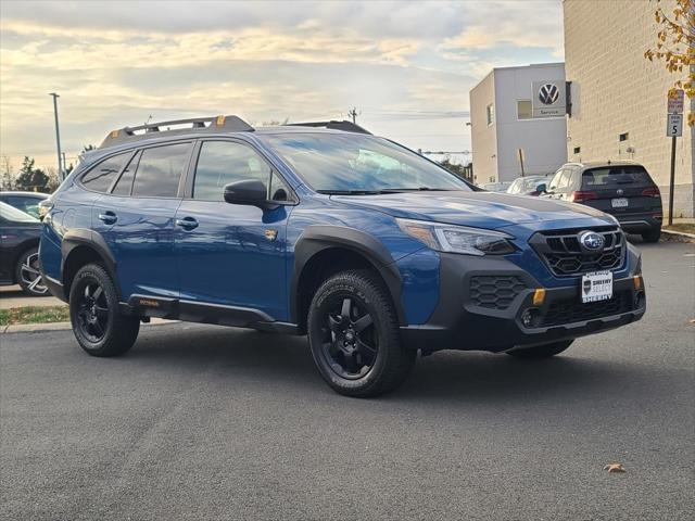
[[[92,226],[116,258],[124,300],[178,297],[174,217],[192,148],[186,141],[140,150],[111,192],[94,203]]]

